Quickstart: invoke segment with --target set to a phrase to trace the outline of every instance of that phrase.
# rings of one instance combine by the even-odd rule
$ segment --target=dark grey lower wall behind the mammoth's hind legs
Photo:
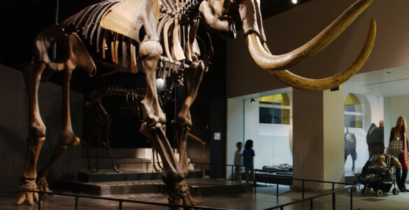
[[[27,150],[27,125],[24,109],[24,80],[22,73],[0,65],[0,190],[16,190],[20,186]],[[73,132],[82,138],[82,94],[71,91],[71,120]],[[37,169],[48,162],[62,130],[62,88],[41,83],[38,104],[46,129],[45,142],[38,158]],[[74,179],[80,169],[81,146],[67,148],[48,174],[51,184],[60,179]]]

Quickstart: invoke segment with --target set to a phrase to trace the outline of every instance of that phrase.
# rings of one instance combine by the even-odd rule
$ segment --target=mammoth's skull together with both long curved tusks
[[[375,20],[371,20],[368,36],[357,59],[345,70],[322,79],[297,76],[287,69],[316,55],[357,18],[373,0],[358,0],[347,8],[327,28],[301,47],[283,55],[272,55],[266,45],[258,0],[207,0],[199,11],[205,25],[224,36],[235,36],[234,20],[240,18],[250,55],[262,69],[266,69],[283,83],[301,90],[327,90],[345,82],[364,65],[373,48],[376,35]]]

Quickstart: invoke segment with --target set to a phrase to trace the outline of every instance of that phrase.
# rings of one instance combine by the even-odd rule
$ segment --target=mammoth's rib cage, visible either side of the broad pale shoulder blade
[[[150,0],[139,0],[139,1],[150,1]],[[187,27],[192,25],[194,21],[199,20],[199,0],[159,0],[159,20],[156,26],[157,36],[161,45],[164,46],[164,57],[167,57],[166,62],[168,64],[165,66],[173,66],[173,69],[184,69],[185,66],[182,63],[192,62],[191,55],[200,55],[199,45],[197,45],[196,38],[194,38],[194,44],[197,45],[197,50],[191,52],[188,44],[189,34],[187,33]],[[101,1],[94,5],[88,6],[87,8],[76,13],[76,15],[71,16],[64,20],[60,26],[64,27],[67,33],[76,32],[84,39],[84,43],[92,45],[95,48],[95,52],[101,54],[102,59],[108,59],[110,55],[110,62],[115,64],[120,64],[122,68],[128,69],[131,65],[132,55],[138,55],[138,48],[133,48],[131,45],[138,46],[139,41],[124,36],[122,34],[117,34],[114,31],[103,29],[101,27],[101,19],[110,8],[120,3],[120,0],[108,0]],[[170,20],[178,20],[178,23],[171,22]],[[168,28],[168,34],[165,35],[165,25],[169,22],[170,26]],[[173,31],[173,33],[171,33]],[[177,31],[177,32],[175,32]],[[196,32],[194,32],[196,33]],[[175,34],[178,37],[173,37]],[[180,60],[175,57],[175,48],[178,48],[175,43],[169,42],[165,46],[164,36],[169,40],[178,39],[180,48],[187,58],[187,60]],[[85,41],[87,40],[87,41]],[[193,42],[192,42],[193,43]],[[171,52],[166,53],[166,49],[170,48]],[[189,49],[188,49],[189,48]],[[121,59],[121,60],[120,60]],[[180,61],[180,62],[175,62]],[[170,65],[171,64],[171,65]],[[174,71],[172,71],[174,72]],[[169,76],[169,75],[168,75]]]

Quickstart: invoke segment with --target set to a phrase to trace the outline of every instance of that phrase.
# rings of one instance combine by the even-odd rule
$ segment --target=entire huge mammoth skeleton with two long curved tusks
[[[196,205],[185,177],[189,173],[186,139],[192,127],[189,108],[209,64],[208,57],[201,58],[203,55],[201,56],[201,49],[196,41],[199,21],[210,31],[233,38],[236,36],[235,22],[241,21],[245,43],[254,62],[262,69],[292,87],[326,90],[345,82],[364,64],[375,40],[375,20],[371,20],[368,37],[359,56],[340,73],[328,78],[310,79],[296,76],[286,69],[320,52],[372,1],[356,1],[315,38],[284,55],[272,55],[267,48],[258,0],[108,0],[81,10],[59,25],[44,29],[36,37],[33,68],[24,71],[29,137],[20,189],[49,191],[45,176],[51,165],[67,146],[75,146],[80,142],[71,128],[69,83],[71,73],[76,68],[84,69],[90,76],[94,76],[94,58],[112,64],[118,70],[131,73],[141,71],[145,74],[146,92],[141,101],[144,123],[140,131],[152,141],[162,158],[162,178],[168,190],[169,203]],[[65,50],[66,57],[62,62],[52,62],[48,57],[48,48],[56,42]],[[169,69],[171,73],[179,68],[185,69],[187,97],[174,122],[180,160],[176,160],[166,137],[166,116],[159,106],[155,83],[159,59],[166,59],[175,66]],[[64,73],[63,130],[48,165],[37,173],[38,154],[45,141],[45,125],[38,108],[38,85],[50,73],[57,71]],[[38,201],[37,193],[22,192],[16,203],[34,204],[34,201]]]

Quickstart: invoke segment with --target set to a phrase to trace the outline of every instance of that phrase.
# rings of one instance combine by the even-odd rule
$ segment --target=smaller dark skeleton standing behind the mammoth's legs
[[[169,66],[168,62],[165,61],[161,62],[161,65],[162,67],[159,67],[159,70],[157,71],[157,78],[165,78],[166,66]],[[171,73],[171,77],[166,77],[166,89],[162,90],[158,94],[162,111],[164,111],[164,106],[166,106],[166,104],[171,101],[171,99],[173,99],[174,86],[177,84],[182,85],[180,83],[180,78],[182,78],[182,71],[178,71],[178,73]],[[87,107],[87,109],[94,109],[98,113],[98,122],[96,123],[97,125],[92,125],[93,129],[91,129],[94,132],[90,132],[89,137],[85,139],[85,141],[82,141],[82,144],[85,146],[85,149],[87,151],[87,167],[90,172],[96,172],[94,171],[94,169],[92,169],[90,164],[90,141],[91,139],[93,139],[92,137],[94,137],[95,131],[101,132],[101,130],[104,130],[105,132],[103,132],[102,136],[100,133],[98,133],[98,141],[101,141],[102,146],[106,148],[114,171],[120,172],[120,170],[115,166],[113,155],[110,149],[110,127],[111,125],[113,125],[113,123],[117,123],[113,120],[111,114],[113,112],[120,114],[120,116],[130,119],[134,123],[143,122],[143,109],[141,106],[141,101],[143,100],[145,93],[145,87],[128,88],[122,86],[108,86],[93,90],[91,94],[89,94],[89,99],[87,100],[87,102],[85,102],[85,107]],[[113,106],[114,111],[112,109],[106,109],[106,104],[103,103],[104,99],[110,102],[117,102],[117,106]],[[98,127],[98,129],[96,129],[95,127]],[[155,148],[152,147],[152,153],[154,153],[154,151]],[[155,158],[155,156],[153,157]]]

